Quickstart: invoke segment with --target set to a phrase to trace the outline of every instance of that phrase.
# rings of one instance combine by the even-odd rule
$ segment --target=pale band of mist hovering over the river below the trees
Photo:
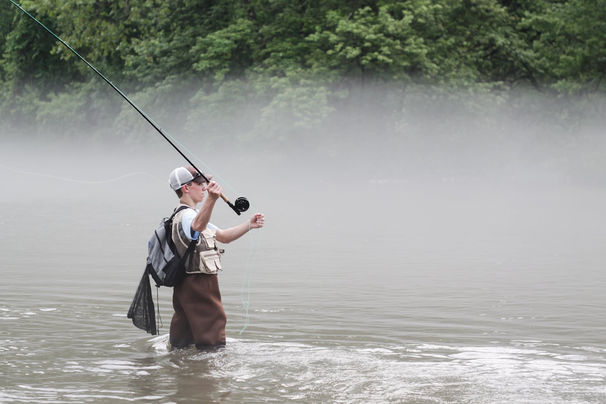
[[[530,110],[522,97],[499,104],[481,95],[448,99],[431,93],[405,96],[396,114],[381,109],[387,92],[360,91],[364,102],[342,105],[315,127],[288,114],[268,122],[250,113],[255,107],[249,105],[241,115],[227,108],[214,117],[213,128],[191,116],[187,124],[171,121],[163,128],[196,167],[216,175],[229,199],[245,196],[265,213],[267,233],[279,239],[302,228],[339,228],[342,236],[367,227],[397,234],[430,224],[447,234],[511,223],[507,215],[516,209],[536,217],[553,210],[565,222],[601,201],[595,198],[606,180],[602,114],[590,110],[556,122],[557,100],[533,98]],[[154,112],[147,111],[152,117]],[[159,112],[182,114],[167,105]],[[145,125],[133,125],[126,137],[117,133],[127,127],[102,137],[112,128],[60,122],[63,130],[55,133],[5,134],[0,177],[7,191],[1,202],[90,211],[92,222],[99,205],[125,216],[144,207],[153,212],[141,218],[151,228],[176,203],[168,173],[188,163],[139,121]],[[556,214],[559,204],[571,205]],[[14,215],[13,209],[3,212]],[[214,217],[226,226],[242,220],[222,201]],[[553,223],[553,217],[544,219]],[[138,237],[143,242],[145,234]]]

